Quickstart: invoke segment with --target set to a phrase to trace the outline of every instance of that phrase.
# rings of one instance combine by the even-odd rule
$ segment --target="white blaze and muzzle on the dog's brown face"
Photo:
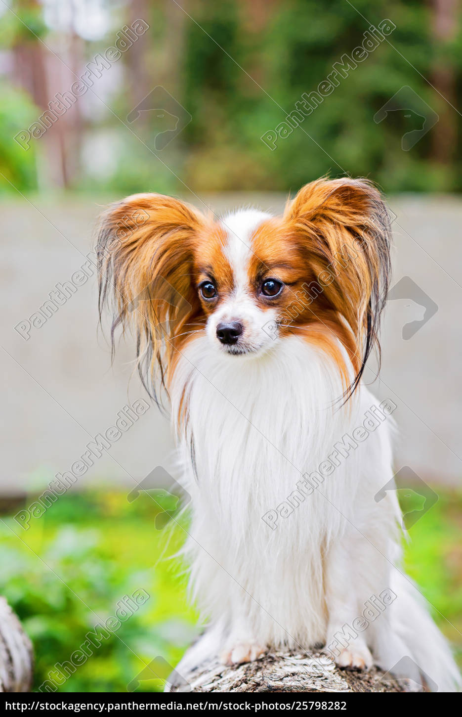
[[[207,322],[208,337],[226,353],[250,353],[268,348],[274,343],[274,332],[267,326],[274,326],[276,312],[262,310],[256,300],[254,287],[249,282],[249,262],[253,256],[252,234],[271,215],[256,209],[242,209],[228,214],[223,227],[228,234],[224,253],[234,277],[234,290],[226,303],[221,303]],[[218,323],[237,321],[243,328],[239,342],[234,346],[221,346],[216,338]]]

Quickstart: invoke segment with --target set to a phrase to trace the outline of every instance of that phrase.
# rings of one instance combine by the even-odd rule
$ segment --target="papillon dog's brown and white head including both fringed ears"
[[[134,218],[136,217],[136,219]],[[168,385],[188,341],[256,359],[287,336],[326,351],[355,389],[388,289],[390,224],[365,180],[320,179],[280,217],[240,210],[216,220],[159,194],[110,207],[98,237],[100,309],[135,326],[145,380]],[[351,366],[347,366],[351,364]]]

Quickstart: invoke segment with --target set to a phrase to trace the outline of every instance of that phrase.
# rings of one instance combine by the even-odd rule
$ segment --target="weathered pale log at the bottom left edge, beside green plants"
[[[29,692],[33,664],[31,641],[9,604],[0,597],[0,692]]]

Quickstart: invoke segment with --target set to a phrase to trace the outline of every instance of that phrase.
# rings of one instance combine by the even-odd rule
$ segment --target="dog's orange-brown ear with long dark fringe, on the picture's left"
[[[206,224],[192,206],[162,194],[134,194],[100,217],[100,319],[109,305],[112,351],[117,326],[134,329],[138,370],[154,398],[155,368],[163,384],[175,354],[175,336],[197,308],[191,282],[193,246]]]

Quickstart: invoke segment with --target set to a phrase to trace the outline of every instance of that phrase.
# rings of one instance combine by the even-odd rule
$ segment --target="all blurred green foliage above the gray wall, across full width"
[[[47,41],[53,33],[28,4],[13,3],[24,22]],[[104,52],[115,31],[129,22],[128,16],[133,18],[130,4],[105,6],[112,15],[111,29],[104,39],[85,41],[87,60]],[[128,49],[120,60],[120,81],[105,97],[110,109],[100,106],[85,119],[84,144],[97,131],[108,138],[117,135],[114,166],[95,175],[81,162],[69,186],[115,194],[150,189],[174,193],[184,191],[183,182],[193,191],[294,191],[323,174],[347,173],[369,176],[389,192],[460,191],[461,114],[456,108],[462,93],[462,14],[456,11],[450,32],[442,37],[435,31],[435,7],[418,0],[196,1],[188,8],[190,19],[179,8],[167,11],[162,4],[138,3],[150,24],[143,50],[139,45],[136,51],[143,72],[133,69],[134,51]],[[19,32],[19,21],[8,12],[5,16],[16,29],[0,34],[0,45],[33,41],[30,33],[24,37],[24,26]],[[345,53],[351,56],[371,24],[377,27],[387,18],[396,26],[393,32],[271,151],[261,136],[284,121],[304,92],[317,90]],[[141,99],[156,85],[163,85],[192,115],[191,123],[158,152],[155,118],[127,126],[133,87]],[[402,87],[410,87],[439,115],[409,151],[403,151],[401,140],[421,127],[418,107],[374,121]],[[97,82],[93,91],[100,92]],[[37,186],[29,155],[45,147],[41,138],[29,151],[13,151],[5,116],[17,118],[11,120],[14,127],[27,127],[26,111],[10,88],[0,115],[0,161],[21,191]],[[36,110],[37,117],[41,111]],[[1,186],[9,189],[5,182]]]

